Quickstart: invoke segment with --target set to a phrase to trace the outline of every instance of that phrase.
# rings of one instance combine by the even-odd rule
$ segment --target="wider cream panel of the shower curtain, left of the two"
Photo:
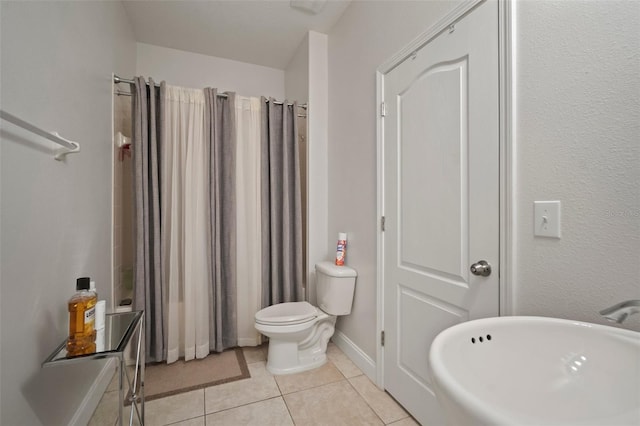
[[[167,87],[161,139],[167,362],[209,354],[209,144],[202,90]]]

